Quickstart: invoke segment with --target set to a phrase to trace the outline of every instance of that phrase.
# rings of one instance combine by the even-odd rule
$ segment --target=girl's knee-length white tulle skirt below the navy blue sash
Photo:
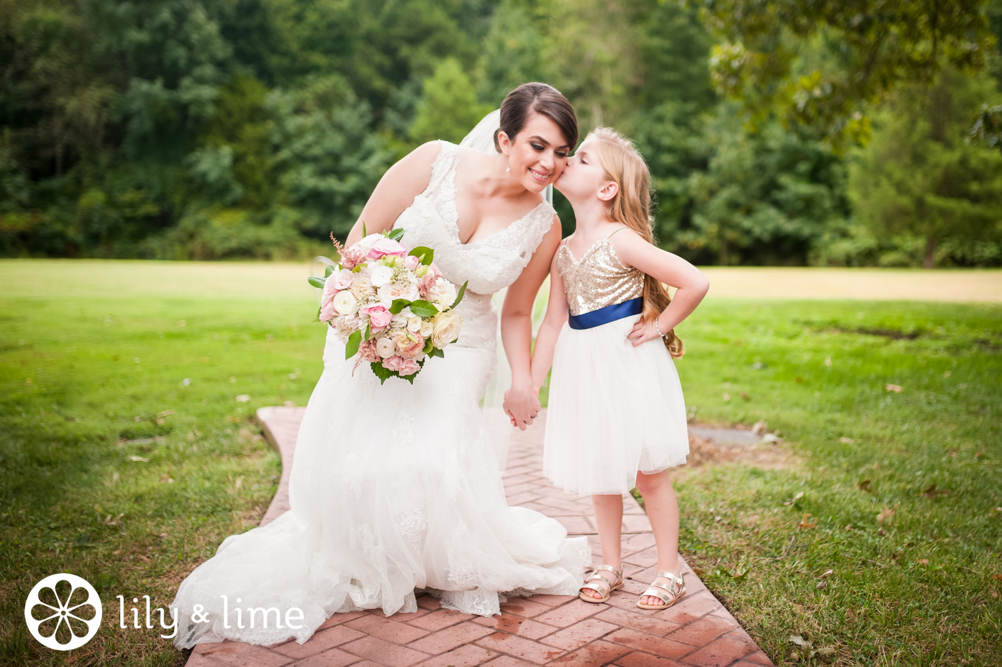
[[[685,402],[660,340],[634,348],[640,315],[591,328],[564,324],[550,376],[543,473],[566,493],[624,494],[636,473],[685,463]]]

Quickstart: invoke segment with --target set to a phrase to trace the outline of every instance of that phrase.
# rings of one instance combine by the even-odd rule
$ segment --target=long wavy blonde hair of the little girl
[[[611,127],[596,127],[585,141],[593,139],[605,177],[619,186],[609,202],[609,217],[640,234],[648,243],[654,242],[650,215],[650,171],[633,142]],[[583,143],[583,142],[582,142]],[[643,277],[642,321],[650,321],[668,307],[671,298],[661,281],[649,274]],[[672,357],[685,354],[681,339],[671,329],[664,335],[664,347]]]

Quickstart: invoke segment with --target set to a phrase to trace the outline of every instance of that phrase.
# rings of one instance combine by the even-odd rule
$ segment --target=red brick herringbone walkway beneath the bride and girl
[[[282,453],[279,492],[262,524],[289,507],[289,471],[304,408],[262,408],[259,420]],[[542,476],[541,424],[515,431],[504,475],[510,505],[560,521],[572,535],[588,535],[594,564],[600,551],[591,501],[564,494]],[[430,596],[418,611],[387,617],[382,610],[334,614],[306,644],[273,647],[225,641],[199,644],[188,667],[761,667],[772,665],[698,577],[684,566],[686,594],[663,612],[634,607],[656,571],[654,538],[643,510],[623,497],[623,574],[626,586],[607,604],[575,596],[512,598],[501,616],[486,618],[441,609]]]

